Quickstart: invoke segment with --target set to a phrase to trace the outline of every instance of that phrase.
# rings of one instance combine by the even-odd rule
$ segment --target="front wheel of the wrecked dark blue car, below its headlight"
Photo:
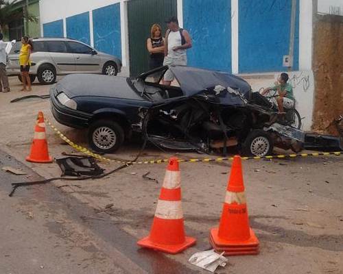
[[[97,120],[88,128],[88,142],[91,148],[102,153],[119,149],[124,140],[123,128],[115,121]]]

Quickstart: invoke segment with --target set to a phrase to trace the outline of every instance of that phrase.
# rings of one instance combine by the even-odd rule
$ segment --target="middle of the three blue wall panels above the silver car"
[[[89,12],[66,18],[67,37],[74,38],[88,45],[91,44],[89,32]]]

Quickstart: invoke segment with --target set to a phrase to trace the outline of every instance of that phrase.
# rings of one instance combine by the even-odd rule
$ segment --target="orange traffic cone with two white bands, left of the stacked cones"
[[[137,244],[176,254],[195,242],[195,238],[185,236],[178,158],[170,158],[150,235],[139,240]]]

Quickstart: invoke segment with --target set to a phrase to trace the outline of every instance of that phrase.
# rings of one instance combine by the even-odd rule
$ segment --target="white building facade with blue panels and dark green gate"
[[[66,36],[119,56],[132,75],[147,69],[152,23],[177,15],[193,47],[189,65],[232,73],[283,71],[291,0],[40,0],[43,36]],[[311,69],[312,1],[298,0],[294,70]]]

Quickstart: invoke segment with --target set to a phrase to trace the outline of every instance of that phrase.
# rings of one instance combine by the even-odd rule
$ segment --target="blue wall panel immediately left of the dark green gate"
[[[93,10],[94,47],[121,58],[120,4]]]

